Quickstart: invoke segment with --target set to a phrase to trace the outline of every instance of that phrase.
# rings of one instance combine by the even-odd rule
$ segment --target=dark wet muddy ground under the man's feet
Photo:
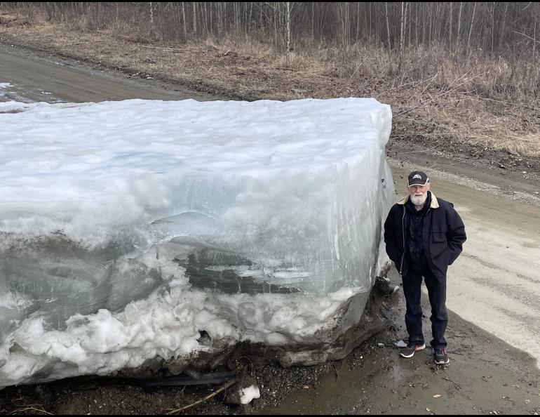
[[[395,271],[394,271],[395,272]],[[393,282],[397,273],[391,274]],[[539,371],[525,352],[450,313],[451,362],[433,363],[431,349],[399,357],[394,346],[405,337],[403,294],[386,301],[396,329],[360,346],[328,369],[316,388],[288,395],[272,414],[515,414],[538,413]],[[429,305],[423,300],[424,315]],[[423,320],[429,334],[430,322]],[[382,346],[384,345],[384,346]]]

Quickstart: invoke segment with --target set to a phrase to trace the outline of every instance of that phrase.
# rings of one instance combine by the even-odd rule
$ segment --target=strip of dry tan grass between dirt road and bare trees
[[[233,37],[165,43],[88,22],[1,25],[0,37],[135,74],[245,99],[368,96],[391,105],[393,136],[540,158],[540,67],[433,45],[407,50],[402,71],[382,46],[304,48],[287,55]]]

